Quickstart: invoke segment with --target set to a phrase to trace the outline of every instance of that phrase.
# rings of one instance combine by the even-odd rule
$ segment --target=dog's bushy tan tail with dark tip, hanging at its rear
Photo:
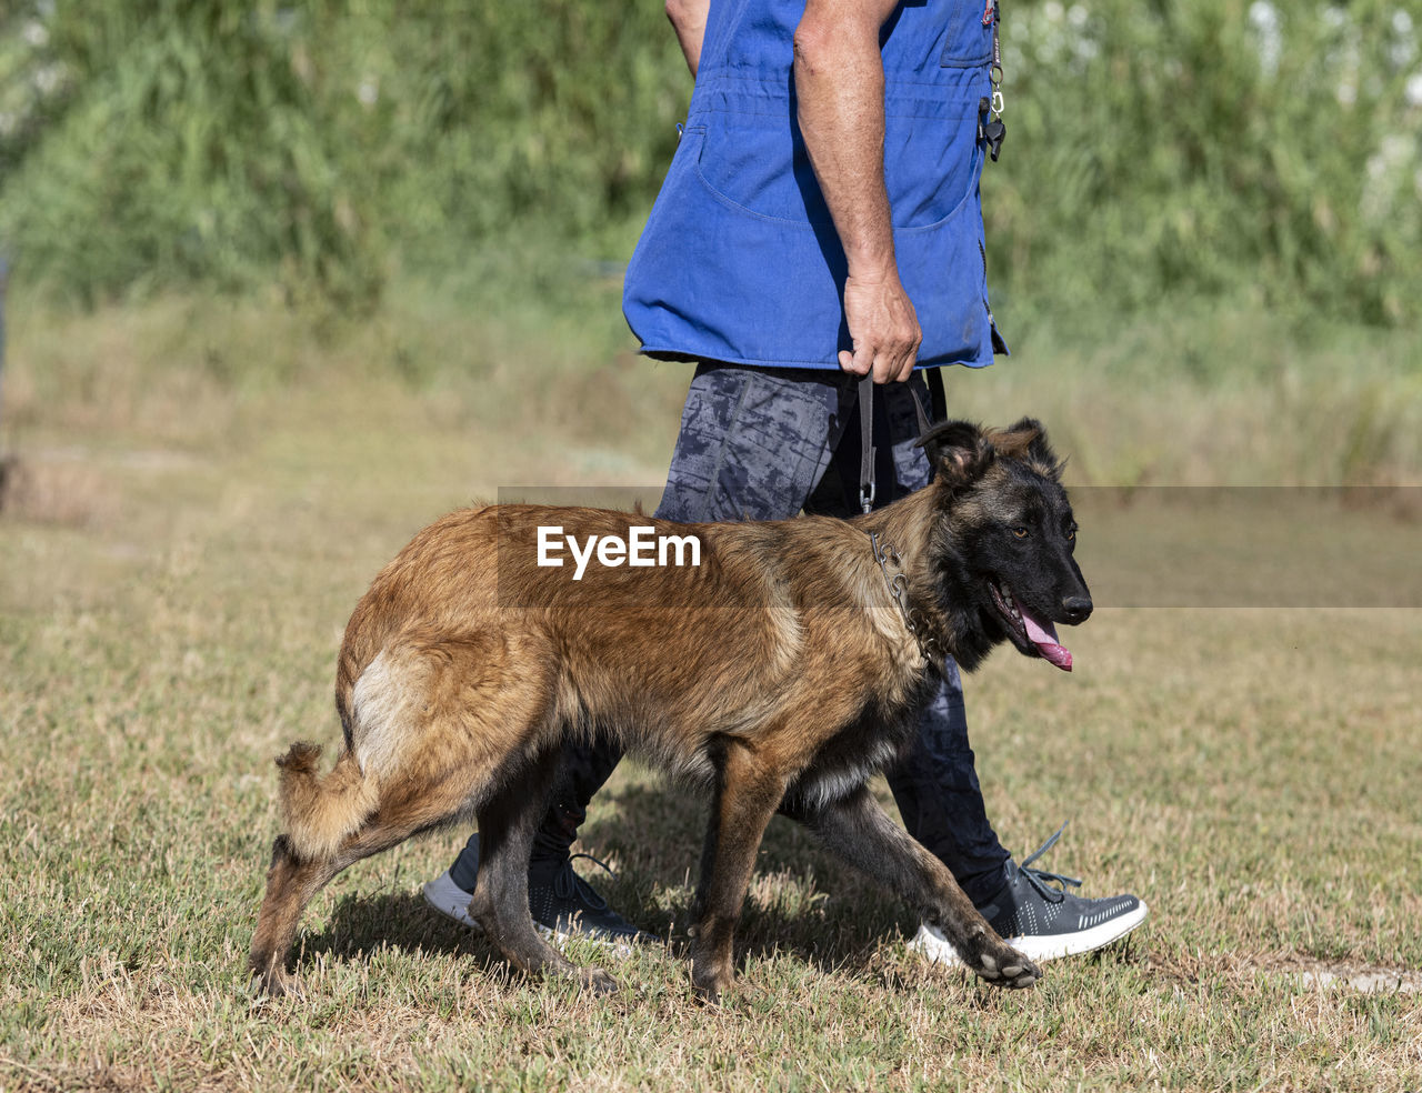
[[[276,760],[282,768],[279,807],[282,822],[299,858],[328,858],[341,840],[357,830],[380,803],[374,779],[365,777],[347,749],[328,775],[317,770],[321,749],[314,743],[293,743]]]

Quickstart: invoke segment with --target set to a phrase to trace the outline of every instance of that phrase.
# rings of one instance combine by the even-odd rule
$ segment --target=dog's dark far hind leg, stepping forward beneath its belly
[[[479,878],[469,914],[516,968],[530,975],[565,975],[599,992],[616,991],[617,981],[602,968],[580,968],[539,937],[529,914],[529,853],[562,758],[555,745],[520,762],[502,789],[479,806]]]

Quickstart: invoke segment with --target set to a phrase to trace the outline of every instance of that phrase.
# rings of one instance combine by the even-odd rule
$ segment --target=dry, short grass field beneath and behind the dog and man
[[[620,994],[523,981],[429,911],[418,885],[466,836],[448,831],[333,883],[300,938],[307,996],[255,999],[270,760],[338,739],[334,655],[368,580],[499,486],[656,483],[685,372],[629,360],[611,323],[438,304],[10,318],[0,1090],[1422,1087],[1416,608],[1103,607],[1071,677],[998,652],[968,709],[1004,841],[1069,819],[1042,864],[1152,907],[1034,991],[926,965],[902,905],[776,820],[741,989],[698,1006],[681,947],[702,813],[624,765],[580,849],[670,949],[584,951]],[[1048,354],[1041,327],[950,397],[1042,416],[1079,485],[1422,483],[1409,335],[1192,330]],[[1415,510],[1332,509],[1268,542],[1322,522],[1357,537],[1334,564],[1405,576],[1418,556]],[[1146,573],[1160,526],[1111,516]],[[1317,976],[1371,971],[1392,985]]]

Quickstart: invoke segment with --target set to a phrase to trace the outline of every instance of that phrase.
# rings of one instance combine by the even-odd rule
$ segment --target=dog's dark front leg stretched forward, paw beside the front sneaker
[[[1003,941],[939,858],[893,823],[867,786],[828,803],[789,797],[781,809],[852,866],[917,910],[964,964],[997,986],[1031,986],[1041,971]]]

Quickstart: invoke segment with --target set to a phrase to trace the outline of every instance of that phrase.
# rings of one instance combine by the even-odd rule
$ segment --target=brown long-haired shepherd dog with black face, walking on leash
[[[530,843],[562,748],[597,733],[710,789],[693,905],[701,998],[732,985],[737,921],[776,812],[912,904],[984,981],[1034,984],[1039,969],[866,783],[909,746],[946,657],[971,671],[1007,642],[1071,668],[1054,624],[1092,608],[1072,557],[1076,526],[1038,422],[947,422],[919,442],[933,480],[850,520],[677,524],[506,505],[417,534],[346,628],[334,769],[320,773],[310,743],[277,759],[284,833],[252,944],[259,988],[297,989],[286,958],[331,877],[476,819],[469,914],[525,972],[614,989],[607,972],[543,941],[528,903]],[[665,564],[647,564],[653,534],[681,556],[663,547]]]

